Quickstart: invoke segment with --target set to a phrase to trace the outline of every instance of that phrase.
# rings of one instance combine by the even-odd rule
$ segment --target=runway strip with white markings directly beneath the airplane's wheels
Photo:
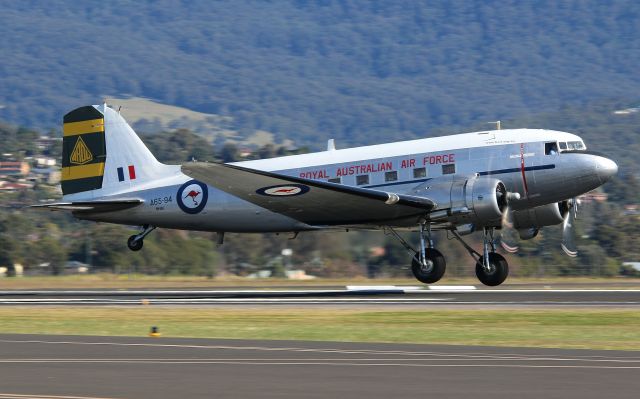
[[[5,290],[10,305],[220,305],[389,307],[605,307],[638,308],[640,290],[477,289],[474,286],[349,286],[334,289],[224,290]]]

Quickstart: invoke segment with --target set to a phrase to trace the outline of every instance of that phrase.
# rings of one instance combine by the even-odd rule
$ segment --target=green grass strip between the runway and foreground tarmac
[[[640,350],[637,310],[0,308],[0,333]]]

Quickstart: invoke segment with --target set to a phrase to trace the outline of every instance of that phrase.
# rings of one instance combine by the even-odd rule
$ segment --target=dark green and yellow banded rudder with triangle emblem
[[[102,187],[107,150],[104,115],[92,106],[64,116],[62,128],[62,194]]]

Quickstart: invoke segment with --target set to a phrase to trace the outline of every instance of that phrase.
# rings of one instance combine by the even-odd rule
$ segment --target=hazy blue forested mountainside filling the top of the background
[[[640,2],[3,2],[0,119],[103,96],[319,147],[638,99]]]

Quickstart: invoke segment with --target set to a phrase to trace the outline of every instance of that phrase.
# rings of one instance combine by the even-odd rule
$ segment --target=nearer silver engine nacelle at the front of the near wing
[[[429,214],[434,222],[499,227],[507,207],[504,183],[485,176],[443,176],[429,180],[412,194],[436,203],[436,209]]]

